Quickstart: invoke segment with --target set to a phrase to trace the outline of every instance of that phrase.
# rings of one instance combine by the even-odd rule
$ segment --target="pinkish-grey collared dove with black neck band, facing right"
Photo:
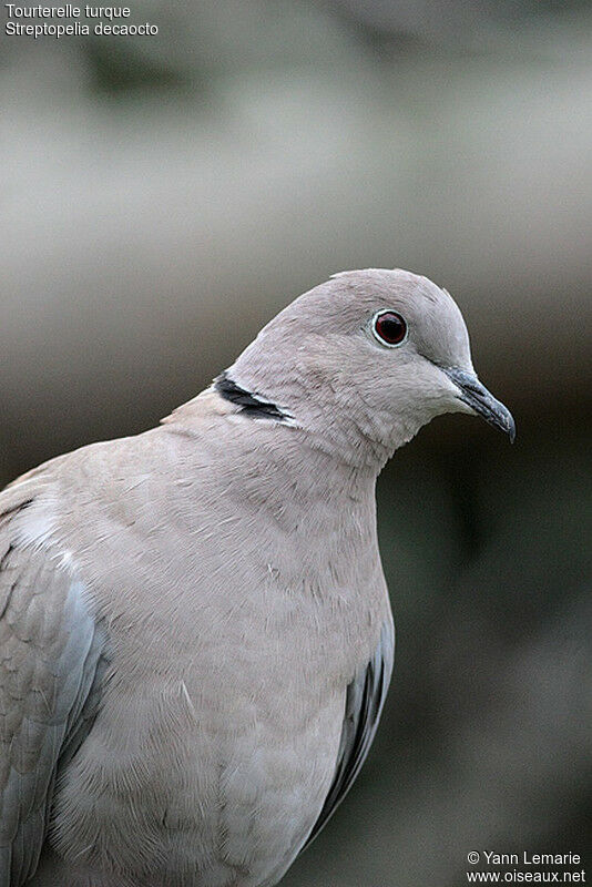
[[[375,487],[436,416],[516,434],[452,297],[341,272],[156,427],[0,493],[0,887],[272,887],[394,660]]]

